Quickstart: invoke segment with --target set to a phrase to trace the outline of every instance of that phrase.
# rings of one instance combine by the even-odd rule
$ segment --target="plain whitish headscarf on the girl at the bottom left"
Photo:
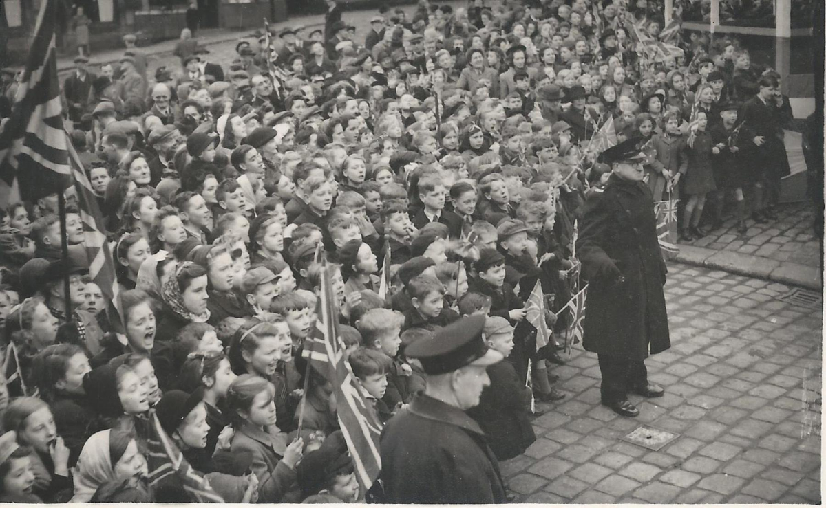
[[[131,434],[121,430],[101,430],[93,434],[80,452],[78,465],[74,467],[74,496],[69,502],[92,501],[97,488],[115,479],[115,464],[134,440]]]

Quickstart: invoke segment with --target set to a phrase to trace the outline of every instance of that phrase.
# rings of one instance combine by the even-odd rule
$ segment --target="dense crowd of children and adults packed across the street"
[[[497,462],[566,396],[553,368],[586,280],[595,306],[648,301],[627,341],[589,340],[616,329],[586,318],[603,402],[635,416],[629,389],[662,395],[642,364],[668,346],[664,302],[644,294],[665,264],[656,238],[634,236],[653,227],[647,204],[680,200],[683,241],[729,209],[743,232],[776,218],[781,77],[729,36],[677,31],[676,53],[643,57],[640,35],[667,28],[662,2],[420,0],[412,15],[382,7],[367,34],[327,3],[324,30],[262,33],[231,61],[188,42],[179,68],[147,75],[134,35],[116,64],[74,60],[64,113],[105,218],[122,327],[90,278],[74,189],[69,256],[57,195],[8,204],[0,501],[192,501],[174,477],[141,480],[150,413],[225,501],[363,501],[335,389],[302,355],[323,270],[358,387],[387,424],[376,499],[506,501]],[[628,219],[594,205],[631,192],[613,190],[626,179],[643,181],[627,186],[642,204]],[[601,238],[647,249],[644,270]],[[553,332],[539,348],[537,284]],[[626,354],[632,367],[610,360]],[[455,374],[468,369],[481,371]],[[427,440],[450,440],[438,467]]]

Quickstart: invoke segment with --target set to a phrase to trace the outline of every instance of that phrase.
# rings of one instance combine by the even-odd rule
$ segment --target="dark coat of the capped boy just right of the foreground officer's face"
[[[468,415],[485,431],[496,459],[513,459],[536,440],[528,421],[530,391],[507,360],[490,365],[487,375],[491,384],[482,391],[479,405],[468,409]]]

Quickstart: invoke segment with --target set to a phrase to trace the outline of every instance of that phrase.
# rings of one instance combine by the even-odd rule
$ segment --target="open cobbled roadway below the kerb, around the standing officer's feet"
[[[666,388],[617,416],[600,404],[596,355],[553,369],[567,398],[534,420],[538,439],[502,463],[523,502],[819,503],[819,308],[789,290],[723,271],[672,265],[672,348],[646,361]],[[638,426],[678,434],[658,451],[620,438]]]

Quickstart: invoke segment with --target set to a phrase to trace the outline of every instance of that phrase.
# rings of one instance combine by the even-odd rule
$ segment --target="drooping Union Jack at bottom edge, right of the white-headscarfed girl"
[[[146,438],[146,463],[149,473],[146,475],[150,485],[177,474],[184,492],[197,503],[222,503],[224,499],[210,487],[207,479],[198,473],[183,458],[181,450],[169,439],[160,426],[158,414],[150,410],[149,435]]]

